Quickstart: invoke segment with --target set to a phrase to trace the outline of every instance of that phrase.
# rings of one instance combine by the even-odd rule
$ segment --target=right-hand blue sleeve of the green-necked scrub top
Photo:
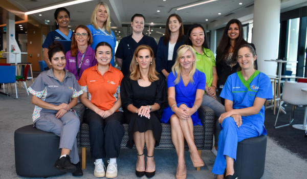
[[[259,89],[256,97],[264,98],[267,100],[273,99],[272,84],[270,78],[267,75],[264,75],[264,77],[260,79]]]

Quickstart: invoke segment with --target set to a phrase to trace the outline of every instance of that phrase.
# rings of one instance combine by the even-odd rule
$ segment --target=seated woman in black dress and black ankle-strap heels
[[[152,177],[156,172],[153,149],[159,145],[162,126],[157,113],[166,100],[166,81],[156,72],[152,49],[147,45],[139,46],[130,64],[130,74],[122,80],[123,109],[125,123],[129,124],[129,140],[126,147],[138,151],[136,175]],[[144,144],[147,148],[145,170]]]

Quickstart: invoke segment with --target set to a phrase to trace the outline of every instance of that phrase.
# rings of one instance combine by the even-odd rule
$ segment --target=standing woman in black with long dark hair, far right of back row
[[[222,39],[218,44],[216,51],[216,72],[218,76],[217,89],[221,93],[223,86],[229,75],[236,73],[239,63],[237,63],[235,54],[239,47],[244,44],[250,44],[254,50],[253,43],[244,40],[243,26],[238,19],[232,19],[226,25]],[[254,62],[257,70],[257,60]],[[222,104],[225,105],[225,99],[221,98]]]

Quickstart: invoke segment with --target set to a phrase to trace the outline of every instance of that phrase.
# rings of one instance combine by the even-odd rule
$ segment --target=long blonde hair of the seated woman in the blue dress
[[[176,62],[175,62],[175,64],[171,68],[171,71],[172,71],[174,76],[175,76],[175,72],[177,73],[177,78],[174,81],[174,84],[178,84],[180,82],[180,78],[182,78],[181,77],[181,75],[182,75],[182,67],[179,64],[179,58],[181,56],[183,56],[183,54],[186,53],[186,51],[190,51],[192,53],[192,56],[193,56],[194,60],[196,59],[195,51],[194,51],[194,49],[191,46],[182,45],[182,46],[179,47],[179,49],[177,50]],[[195,72],[196,72],[196,60],[192,63],[192,70],[189,73],[189,82],[190,83],[194,83],[193,76],[194,76]]]

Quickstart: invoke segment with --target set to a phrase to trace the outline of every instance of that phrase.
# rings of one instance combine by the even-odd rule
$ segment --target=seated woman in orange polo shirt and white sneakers
[[[96,160],[94,175],[114,178],[117,176],[116,158],[124,136],[120,100],[120,84],[124,76],[110,64],[113,52],[107,42],[98,43],[95,52],[98,64],[86,69],[79,81],[84,92],[80,101],[87,107],[83,119],[90,127],[91,155]],[[106,173],[102,161],[105,157],[110,159]]]

